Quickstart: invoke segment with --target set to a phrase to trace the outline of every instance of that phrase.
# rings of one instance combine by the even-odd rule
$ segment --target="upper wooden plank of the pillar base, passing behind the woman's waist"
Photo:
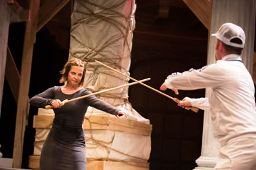
[[[33,127],[37,129],[50,129],[53,119],[54,116],[35,115]],[[152,125],[122,118],[91,116],[89,120],[83,122],[83,129],[114,130],[149,136],[151,135]]]

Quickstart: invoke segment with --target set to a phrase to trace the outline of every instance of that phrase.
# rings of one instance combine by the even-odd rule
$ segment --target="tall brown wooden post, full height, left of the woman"
[[[30,84],[30,72],[34,43],[36,42],[37,15],[39,11],[39,0],[29,1],[30,18],[26,22],[25,38],[23,43],[23,56],[21,63],[21,80],[19,84],[19,95],[17,102],[16,129],[14,137],[14,167],[21,167],[23,140],[28,113],[28,90]]]

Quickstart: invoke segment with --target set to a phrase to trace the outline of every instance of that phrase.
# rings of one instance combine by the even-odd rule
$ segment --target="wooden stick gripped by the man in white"
[[[96,60],[95,60],[95,62],[97,62],[98,64],[101,64],[102,66],[105,66],[106,68],[109,68],[109,69],[111,69],[111,70],[113,70],[113,71],[116,71],[116,72],[118,72],[118,73],[124,75],[125,77],[128,77],[129,79],[134,80],[135,82],[138,82],[138,83],[142,84],[143,86],[145,86],[145,87],[147,87],[147,88],[149,88],[149,89],[151,89],[151,90],[153,90],[153,91],[156,91],[157,93],[160,93],[161,95],[164,95],[165,97],[168,97],[169,99],[175,101],[176,103],[179,103],[179,102],[180,102],[179,99],[176,99],[175,97],[171,97],[171,96],[169,96],[169,95],[166,95],[166,94],[163,93],[162,91],[156,90],[155,88],[151,88],[151,86],[148,86],[147,84],[144,84],[143,82],[139,82],[138,80],[133,79],[133,77],[129,77],[128,75],[125,75],[124,73],[122,73],[122,72],[120,72],[120,71],[118,71],[118,70],[115,70],[114,68],[111,68],[110,66],[107,66],[106,64],[103,64],[103,63],[100,62],[100,61],[96,61]],[[192,106],[189,106],[189,107],[187,107],[187,108],[191,109],[192,111],[195,111],[196,113],[197,113],[198,110],[199,110],[198,108],[195,108],[195,107],[192,107]]]

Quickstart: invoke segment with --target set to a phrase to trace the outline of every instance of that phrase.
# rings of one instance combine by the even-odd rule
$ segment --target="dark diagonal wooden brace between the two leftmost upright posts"
[[[12,91],[12,95],[17,103],[19,95],[19,80],[21,79],[21,76],[19,75],[19,71],[17,70],[14,57],[12,57],[9,47],[7,48],[5,76]]]

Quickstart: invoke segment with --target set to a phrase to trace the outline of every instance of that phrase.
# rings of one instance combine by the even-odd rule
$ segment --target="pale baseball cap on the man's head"
[[[217,39],[229,46],[235,46],[238,48],[244,48],[244,42],[246,40],[244,30],[233,23],[222,24],[218,32],[211,34],[211,36],[217,37]],[[232,42],[233,39],[240,39],[240,42]]]

